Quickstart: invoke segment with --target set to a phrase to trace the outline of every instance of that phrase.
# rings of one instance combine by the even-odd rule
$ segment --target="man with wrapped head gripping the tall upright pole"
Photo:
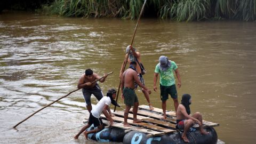
[[[127,59],[128,57],[128,59]],[[126,55],[125,55],[125,59],[123,61],[123,64],[122,64],[122,67],[121,67],[121,70],[120,70],[120,74],[119,74],[119,77],[122,78],[122,72],[124,70],[124,65],[125,65],[125,62],[126,62],[126,59],[129,63],[129,65],[131,64],[132,61],[135,61],[137,63],[136,65],[136,70],[137,70],[137,75],[138,75],[138,78],[140,79],[141,83],[143,85],[145,85],[144,83],[144,79],[142,77],[142,72],[143,70],[141,69],[143,66],[141,64],[141,60],[140,60],[140,52],[136,51],[135,48],[133,48],[131,45],[128,45],[126,47]],[[146,71],[144,71],[144,73],[146,73]],[[154,107],[152,106],[152,104],[150,103],[150,99],[149,99],[149,93],[144,90],[142,87],[141,88],[141,91],[143,92],[145,98],[147,99],[147,102],[148,102],[148,106],[149,106],[149,109],[150,110],[153,110]],[[137,89],[137,86],[135,86],[135,89]]]

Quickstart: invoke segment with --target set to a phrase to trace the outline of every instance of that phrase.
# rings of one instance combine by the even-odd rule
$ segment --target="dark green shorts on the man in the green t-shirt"
[[[176,86],[171,85],[171,86],[163,86],[160,84],[160,91],[161,91],[161,100],[166,101],[168,99],[168,95],[170,94],[173,99],[178,98]]]

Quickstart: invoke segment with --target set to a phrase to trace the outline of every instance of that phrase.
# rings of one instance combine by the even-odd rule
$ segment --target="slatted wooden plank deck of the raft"
[[[173,111],[166,111],[167,118],[162,119],[163,117],[163,110],[160,108],[155,108],[154,110],[149,110],[149,107],[146,105],[139,106],[137,118],[141,119],[142,122],[139,123],[133,123],[133,114],[132,114],[132,108],[130,110],[130,114],[128,115],[127,122],[132,125],[132,127],[125,127],[123,126],[124,123],[124,111],[115,111],[113,112],[115,114],[113,118],[113,127],[119,127],[121,129],[124,129],[125,132],[129,131],[138,131],[143,132],[147,134],[147,137],[155,137],[157,135],[164,135],[167,133],[173,133],[176,131],[175,124],[176,124],[176,117],[174,117],[176,114]],[[105,125],[109,125],[109,121],[106,120],[105,115],[101,115],[102,122]],[[218,123],[212,123],[208,121],[203,121],[204,127],[207,126],[219,126]],[[194,127],[198,127],[197,125],[194,125]]]

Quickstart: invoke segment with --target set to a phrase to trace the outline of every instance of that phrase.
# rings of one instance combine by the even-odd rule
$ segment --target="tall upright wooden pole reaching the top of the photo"
[[[136,24],[135,29],[134,29],[134,32],[133,32],[131,45],[133,44],[133,40],[134,40],[136,31],[137,31],[137,27],[138,27],[138,25],[139,25],[140,17],[141,17],[141,15],[142,15],[142,12],[143,12],[143,10],[144,10],[144,7],[145,7],[145,5],[146,5],[146,2],[147,2],[147,0],[144,1],[144,4],[143,4],[142,7],[141,7],[140,15],[139,15],[137,24]],[[129,53],[130,53],[130,50],[129,50],[128,54],[129,54]],[[126,54],[125,54],[125,55],[126,55]],[[124,67],[122,67],[122,74],[124,73],[124,69],[125,69],[125,67],[126,67],[128,57],[129,57],[129,55],[127,55],[127,58],[126,58],[126,60],[125,60]],[[122,77],[121,77],[121,78],[122,78]],[[121,79],[120,79],[119,86],[118,86],[118,90],[117,90],[116,102],[117,102],[117,100],[118,100],[118,95],[119,95],[120,86],[121,86]],[[115,111],[116,111],[116,106],[115,106],[115,108],[114,108],[114,112],[115,112]]]

